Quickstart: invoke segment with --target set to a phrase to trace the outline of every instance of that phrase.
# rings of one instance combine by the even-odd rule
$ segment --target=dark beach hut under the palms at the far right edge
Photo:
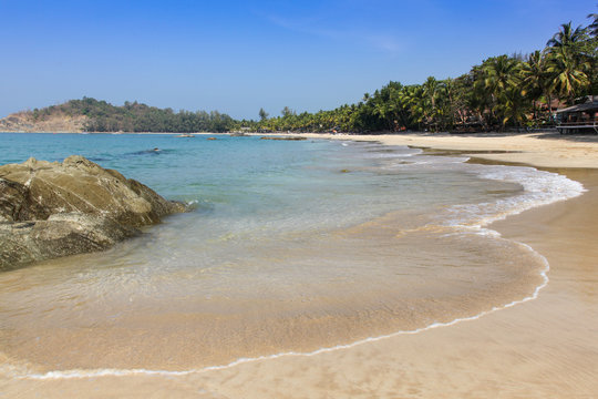
[[[588,96],[584,104],[558,110],[557,129],[564,133],[598,133],[598,95]]]

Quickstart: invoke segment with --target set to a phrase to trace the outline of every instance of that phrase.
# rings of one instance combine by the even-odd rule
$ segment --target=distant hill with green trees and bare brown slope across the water
[[[122,106],[91,98],[0,119],[0,132],[228,132],[237,122],[218,111],[174,112],[135,102]]]

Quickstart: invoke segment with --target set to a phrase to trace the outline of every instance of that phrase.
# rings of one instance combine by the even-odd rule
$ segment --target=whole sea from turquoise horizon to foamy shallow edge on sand
[[[179,376],[501,311],[542,295],[549,265],[492,223],[584,191],[377,142],[0,134],[0,164],[73,154],[190,211],[0,273],[3,377]]]

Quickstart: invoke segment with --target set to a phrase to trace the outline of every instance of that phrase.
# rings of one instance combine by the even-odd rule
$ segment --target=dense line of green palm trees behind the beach
[[[404,85],[391,81],[357,104],[243,124],[262,131],[374,132],[504,130],[553,124],[553,102],[574,104],[598,93],[598,14],[587,27],[560,25],[544,50],[492,57],[455,78]]]

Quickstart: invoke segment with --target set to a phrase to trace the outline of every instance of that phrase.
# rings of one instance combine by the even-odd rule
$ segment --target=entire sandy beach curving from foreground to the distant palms
[[[347,348],[182,375],[3,381],[8,398],[594,398],[598,392],[598,141],[588,136],[307,135],[458,152],[525,164],[584,184],[581,196],[495,222],[542,254],[537,298],[450,326]],[[51,377],[51,376],[50,376]],[[0,382],[2,383],[2,382]],[[0,386],[1,387],[1,386]]]

